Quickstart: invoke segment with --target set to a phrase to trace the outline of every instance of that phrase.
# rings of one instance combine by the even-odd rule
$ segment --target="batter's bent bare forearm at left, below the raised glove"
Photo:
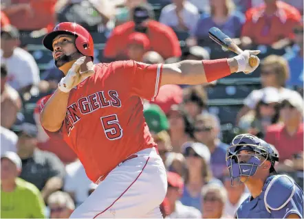
[[[65,119],[69,93],[57,89],[41,112],[41,125],[50,132],[58,131]]]

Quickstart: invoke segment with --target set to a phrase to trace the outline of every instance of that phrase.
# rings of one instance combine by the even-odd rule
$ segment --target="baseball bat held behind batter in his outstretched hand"
[[[243,51],[235,44],[235,42],[232,41],[232,39],[229,36],[227,36],[226,34],[221,32],[221,30],[219,30],[219,28],[217,28],[217,27],[210,28],[209,37],[213,41],[215,41],[215,43],[218,43],[225,49],[235,52],[235,54],[241,54],[241,52]],[[249,65],[251,67],[256,67],[258,65],[258,63],[259,62],[258,62],[257,58],[255,58],[254,56],[250,56]]]

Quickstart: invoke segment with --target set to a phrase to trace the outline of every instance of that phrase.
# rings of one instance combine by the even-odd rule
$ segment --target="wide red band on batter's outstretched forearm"
[[[207,82],[213,82],[214,80],[230,76],[231,74],[227,58],[202,60],[202,63],[204,65]]]

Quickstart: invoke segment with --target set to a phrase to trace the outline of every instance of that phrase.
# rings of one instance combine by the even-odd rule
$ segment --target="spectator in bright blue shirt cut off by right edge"
[[[292,49],[283,56],[290,67],[290,79],[287,80],[286,85],[290,88],[303,89],[303,24],[294,27],[294,43]]]

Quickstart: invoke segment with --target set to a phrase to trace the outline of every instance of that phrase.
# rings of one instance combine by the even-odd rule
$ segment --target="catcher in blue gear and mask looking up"
[[[287,175],[276,174],[272,147],[253,135],[237,135],[227,150],[232,185],[245,183],[250,196],[235,218],[303,218],[303,190]]]

